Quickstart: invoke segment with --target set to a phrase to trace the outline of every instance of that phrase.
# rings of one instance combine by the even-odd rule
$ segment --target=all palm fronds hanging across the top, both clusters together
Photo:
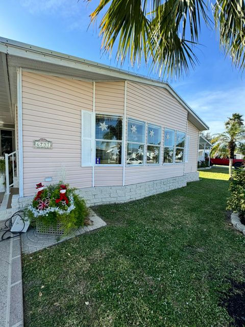
[[[92,0],[86,0],[92,2]],[[213,21],[219,42],[235,66],[245,68],[244,0],[100,0],[91,13],[100,21],[102,48],[117,46],[117,59],[129,56],[132,65],[152,59],[159,74],[180,76],[194,67],[202,21],[210,27]]]

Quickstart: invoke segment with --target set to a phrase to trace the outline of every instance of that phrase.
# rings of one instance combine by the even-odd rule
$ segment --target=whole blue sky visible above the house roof
[[[113,55],[110,59],[101,53],[96,26],[87,29],[96,2],[2,0],[0,36],[119,67]],[[245,114],[245,76],[219,50],[214,30],[204,27],[200,43],[203,45],[196,52],[200,64],[189,76],[169,82],[213,134],[223,131],[224,122],[233,112]],[[157,77],[144,64],[132,68],[125,63],[124,69]]]

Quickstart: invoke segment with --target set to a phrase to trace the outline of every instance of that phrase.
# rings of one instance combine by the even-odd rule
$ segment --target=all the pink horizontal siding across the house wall
[[[95,111],[124,114],[125,82],[96,82]],[[23,174],[24,196],[35,193],[35,184],[52,176],[61,179],[65,168],[71,186],[92,186],[92,168],[81,167],[81,109],[92,111],[93,85],[84,82],[23,72]],[[184,164],[162,165],[163,128],[186,132],[187,111],[166,90],[127,83],[127,116],[162,127],[161,164],[126,167],[125,183],[182,176]],[[190,155],[185,172],[196,170],[198,130],[188,124]],[[44,137],[53,142],[52,150],[33,149],[33,140]],[[96,166],[95,186],[122,185],[120,166]]]

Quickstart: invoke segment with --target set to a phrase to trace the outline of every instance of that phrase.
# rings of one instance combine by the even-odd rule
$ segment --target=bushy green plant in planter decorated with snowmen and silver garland
[[[60,198],[60,186],[66,186],[65,201],[56,202]],[[31,222],[41,220],[45,226],[55,226],[61,223],[64,233],[69,233],[72,229],[83,226],[84,219],[88,216],[88,209],[84,199],[75,193],[76,189],[68,189],[68,184],[59,182],[48,185],[40,198],[32,201],[27,208],[27,216]]]

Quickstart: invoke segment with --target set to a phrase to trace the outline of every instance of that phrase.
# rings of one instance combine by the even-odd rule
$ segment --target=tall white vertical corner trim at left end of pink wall
[[[19,169],[19,196],[23,191],[23,123],[22,123],[22,72],[17,68],[17,107],[18,107],[18,169]]]

